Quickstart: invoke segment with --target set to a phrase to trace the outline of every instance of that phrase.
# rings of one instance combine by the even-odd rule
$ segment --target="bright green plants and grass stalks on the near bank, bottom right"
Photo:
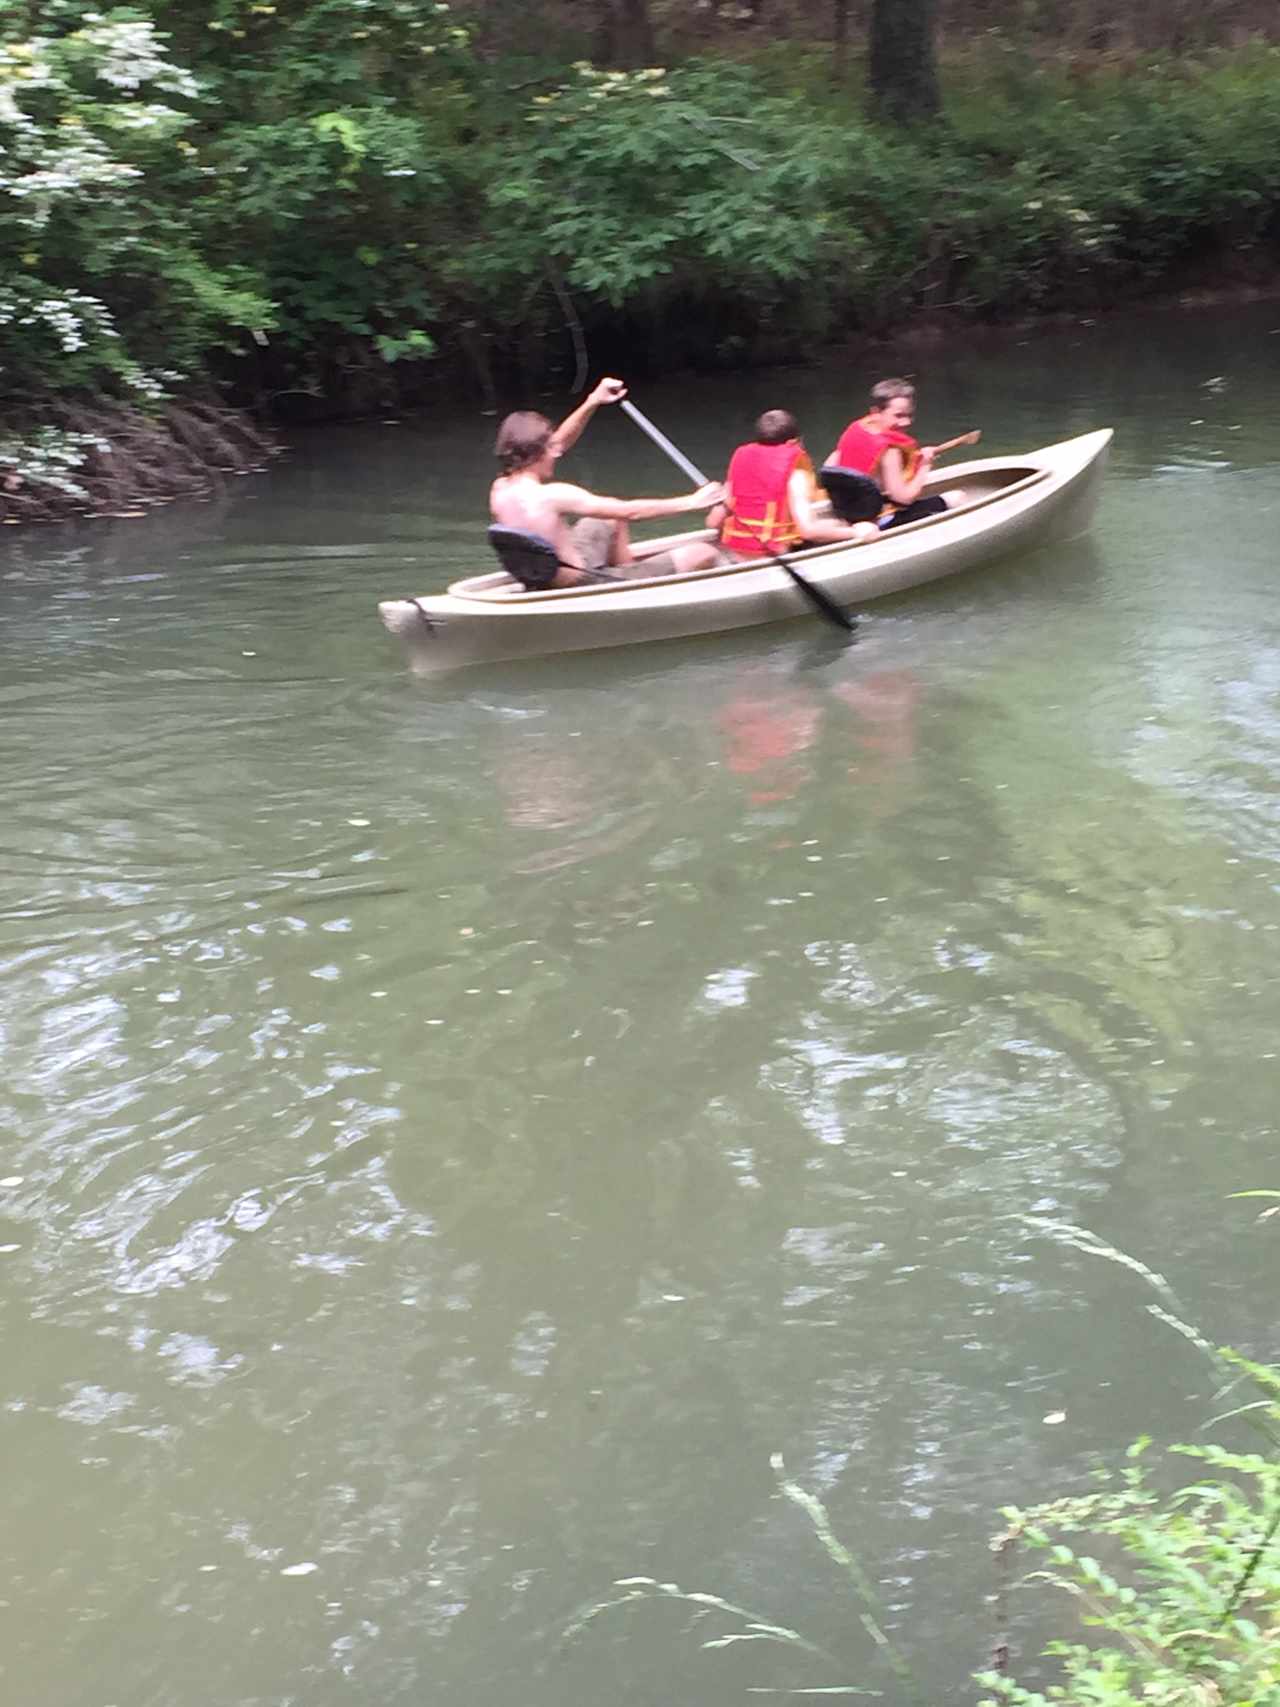
[[[1275,1200],[1280,1191],[1232,1197]],[[1273,1203],[1258,1224],[1275,1214]],[[1280,1367],[1215,1347],[1188,1320],[1162,1273],[1091,1229],[1041,1215],[1017,1219],[1033,1239],[1114,1263],[1142,1280],[1155,1299],[1147,1313],[1181,1338],[1190,1367],[1191,1350],[1201,1359],[1200,1379],[1212,1378],[1215,1415],[1195,1444],[1152,1451],[1152,1437],[1143,1434],[1123,1461],[1096,1461],[1087,1487],[1002,1509],[1005,1529],[990,1541],[995,1593],[986,1596],[995,1628],[988,1664],[973,1675],[983,1692],[978,1707],[1275,1707]],[[1171,1355],[1174,1345],[1171,1340]],[[1065,1420],[1067,1412],[1044,1417],[1048,1425]],[[1225,1441],[1208,1437],[1224,1429]],[[915,1632],[910,1622],[903,1625],[901,1608],[894,1620],[879,1593],[881,1582],[896,1579],[879,1577],[858,1557],[823,1499],[787,1475],[777,1453],[771,1468],[778,1495],[799,1507],[817,1553],[850,1598],[853,1618],[843,1625],[840,1651],[719,1593],[650,1576],[616,1577],[604,1598],[580,1606],[561,1630],[561,1649],[591,1639],[602,1620],[626,1618],[638,1605],[666,1606],[676,1613],[672,1649],[737,1649],[787,1666],[749,1685],[749,1693],[867,1695],[927,1707],[932,1693],[908,1647],[899,1646],[913,1642]],[[1015,1611],[1014,1601],[1027,1591],[1039,1605],[1031,1630],[1022,1630],[1024,1639],[1033,1637],[1031,1649],[1015,1664],[1012,1630],[1026,1613]],[[1015,1669],[1044,1685],[1043,1692],[1022,1685]]]

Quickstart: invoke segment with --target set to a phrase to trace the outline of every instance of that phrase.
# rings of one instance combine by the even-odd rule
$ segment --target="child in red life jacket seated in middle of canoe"
[[[879,539],[876,522],[817,516],[817,498],[814,464],[795,417],[790,410],[765,410],[756,437],[729,461],[724,516],[712,512],[708,522],[720,524],[720,546],[734,562],[836,539]]]

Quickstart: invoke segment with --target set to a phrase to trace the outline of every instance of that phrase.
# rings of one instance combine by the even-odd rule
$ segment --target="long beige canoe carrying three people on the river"
[[[1109,444],[1111,428],[1103,428],[1026,456],[939,469],[925,492],[964,493],[944,516],[893,527],[869,545],[809,546],[790,560],[806,580],[857,609],[1014,551],[1072,539],[1092,519]],[[637,555],[710,538],[700,531],[650,539]],[[415,669],[722,633],[794,616],[821,621],[790,575],[771,563],[548,592],[529,592],[497,570],[456,580],[447,592],[384,599],[377,609],[406,642]]]

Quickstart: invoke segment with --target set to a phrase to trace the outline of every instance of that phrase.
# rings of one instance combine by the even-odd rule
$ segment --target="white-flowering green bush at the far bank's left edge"
[[[268,304],[172,218],[198,85],[135,10],[0,39],[0,398],[157,398]],[[79,9],[75,9],[79,10]]]

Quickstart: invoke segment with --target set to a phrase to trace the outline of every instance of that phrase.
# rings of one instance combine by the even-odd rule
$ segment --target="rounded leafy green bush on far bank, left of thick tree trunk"
[[[799,348],[899,299],[893,271],[925,241],[927,188],[911,143],[814,116],[748,68],[579,65],[495,159],[485,241],[456,280],[480,285],[498,323],[527,314],[527,283],[553,273],[584,319],[693,306]]]

